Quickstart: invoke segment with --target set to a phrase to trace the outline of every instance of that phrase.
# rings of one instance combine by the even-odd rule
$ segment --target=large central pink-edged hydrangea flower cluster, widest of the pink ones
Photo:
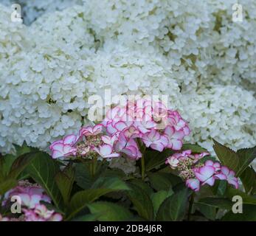
[[[53,159],[75,156],[139,159],[142,153],[137,140],[160,152],[165,148],[180,150],[184,136],[190,134],[187,122],[178,111],[163,103],[139,99],[107,111],[98,125],[88,125],[77,135],[71,134],[50,145]]]

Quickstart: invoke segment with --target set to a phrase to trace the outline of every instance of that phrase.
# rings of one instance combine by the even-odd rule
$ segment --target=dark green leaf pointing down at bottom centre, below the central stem
[[[138,212],[139,216],[145,220],[153,220],[153,204],[148,192],[142,190],[135,184],[129,184],[131,190],[128,191],[127,195],[131,202],[134,204],[134,208]]]

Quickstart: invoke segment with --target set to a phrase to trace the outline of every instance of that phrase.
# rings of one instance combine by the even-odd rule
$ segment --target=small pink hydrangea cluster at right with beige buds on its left
[[[219,162],[207,160],[204,163],[198,162],[209,153],[192,154],[191,150],[184,150],[182,153],[175,153],[169,156],[166,164],[174,170],[179,170],[179,176],[186,181],[187,187],[194,191],[199,191],[204,184],[213,186],[216,179],[226,180],[235,188],[238,188],[238,178],[235,172],[228,167],[221,166]]]

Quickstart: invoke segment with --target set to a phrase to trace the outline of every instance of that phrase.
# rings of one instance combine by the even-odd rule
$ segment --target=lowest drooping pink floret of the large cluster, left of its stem
[[[125,153],[128,157],[132,159],[139,159],[142,157],[142,153],[139,151],[134,139],[128,139],[125,137],[124,133],[120,133],[120,137],[116,143],[115,150],[117,152]]]

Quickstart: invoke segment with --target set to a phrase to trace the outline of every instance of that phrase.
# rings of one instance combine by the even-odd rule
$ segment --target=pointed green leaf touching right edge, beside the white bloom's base
[[[243,148],[237,151],[239,156],[239,170],[236,176],[241,176],[246,167],[256,158],[256,147]]]

